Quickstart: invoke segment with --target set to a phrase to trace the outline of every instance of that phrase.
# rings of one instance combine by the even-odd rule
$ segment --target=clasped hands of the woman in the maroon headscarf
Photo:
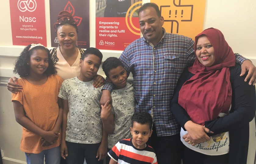
[[[187,121],[184,127],[186,128],[188,133],[182,138],[185,140],[185,142],[192,142],[192,145],[207,142],[211,138],[206,133],[213,133],[208,128],[205,128],[202,125],[195,124],[192,121]]]

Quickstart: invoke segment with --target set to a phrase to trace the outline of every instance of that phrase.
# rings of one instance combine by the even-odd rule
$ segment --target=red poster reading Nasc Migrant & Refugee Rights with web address
[[[46,43],[44,0],[10,0],[12,44]]]

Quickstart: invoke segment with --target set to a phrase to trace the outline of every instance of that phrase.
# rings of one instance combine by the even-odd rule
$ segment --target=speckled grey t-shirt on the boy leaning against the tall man
[[[115,129],[108,135],[108,148],[112,149],[122,139],[131,138],[131,117],[135,111],[135,99],[133,96],[133,81],[129,81],[126,87],[111,92],[112,106],[115,112]]]

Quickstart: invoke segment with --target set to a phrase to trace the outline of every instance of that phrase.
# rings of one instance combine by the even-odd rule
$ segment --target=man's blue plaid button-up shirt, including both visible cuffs
[[[153,111],[158,136],[174,135],[180,132],[180,125],[170,110],[172,94],[182,72],[192,66],[196,56],[194,41],[186,36],[166,33],[153,46],[144,37],[135,40],[123,51],[122,61],[127,75],[133,74],[135,111]],[[247,60],[236,54],[236,62]],[[102,89],[112,91],[113,84]]]

